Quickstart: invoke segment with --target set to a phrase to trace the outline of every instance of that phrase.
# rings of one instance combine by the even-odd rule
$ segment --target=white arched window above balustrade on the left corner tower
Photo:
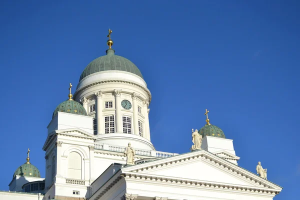
[[[67,175],[69,178],[81,179],[81,156],[77,152],[70,152],[67,157]]]

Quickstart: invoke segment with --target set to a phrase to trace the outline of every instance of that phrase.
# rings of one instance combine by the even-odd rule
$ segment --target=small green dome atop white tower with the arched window
[[[55,108],[52,118],[55,116],[57,112],[67,112],[72,114],[79,114],[86,116],[86,110],[84,107],[75,100],[65,100]]]

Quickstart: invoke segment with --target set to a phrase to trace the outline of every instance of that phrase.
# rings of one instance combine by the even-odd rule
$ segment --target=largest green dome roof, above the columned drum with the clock
[[[106,55],[98,57],[92,60],[82,71],[79,81],[82,80],[84,77],[99,72],[99,71],[106,71],[106,70],[120,70],[120,71],[127,71],[130,73],[134,73],[141,78],[142,75],[133,62],[124,58],[119,55],[114,54],[113,49],[107,49]]]

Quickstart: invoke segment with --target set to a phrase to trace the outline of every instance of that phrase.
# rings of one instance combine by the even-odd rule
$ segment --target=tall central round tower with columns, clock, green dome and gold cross
[[[74,93],[93,117],[96,143],[154,150],[150,142],[148,105],[151,94],[137,66],[111,48],[108,30],[106,55],[92,60],[82,71]]]

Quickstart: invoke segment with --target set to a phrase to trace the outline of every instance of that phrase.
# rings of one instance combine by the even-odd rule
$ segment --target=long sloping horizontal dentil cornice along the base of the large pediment
[[[167,177],[161,175],[153,175],[153,174],[141,174],[135,172],[124,172],[121,173],[121,176],[128,179],[136,179],[140,184],[142,181],[150,181],[155,182],[155,184],[179,184],[185,186],[194,186],[194,187],[202,187],[207,189],[217,189],[217,190],[234,190],[234,191],[241,191],[241,192],[258,192],[263,194],[269,195],[276,195],[280,191],[277,189],[272,188],[261,188],[261,187],[254,187],[254,186],[245,186],[245,185],[235,185],[235,184],[226,184],[226,183],[218,183],[218,182],[210,182],[210,181],[199,181],[199,180],[192,180],[192,179],[183,179],[177,177]]]

